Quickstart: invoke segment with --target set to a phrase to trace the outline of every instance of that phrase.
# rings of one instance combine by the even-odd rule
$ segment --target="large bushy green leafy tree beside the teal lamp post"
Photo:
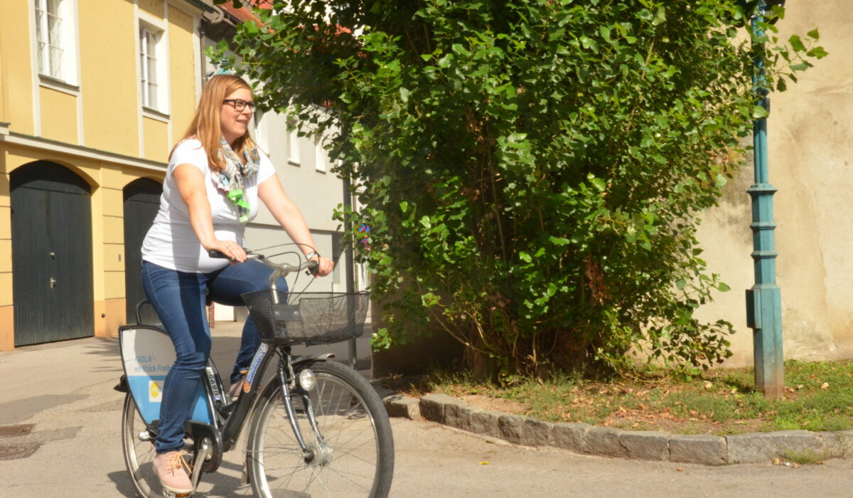
[[[693,317],[728,289],[695,233],[765,114],[753,57],[784,90],[825,55],[816,30],[780,43],[762,23],[753,44],[745,8],[293,0],[238,28],[229,65],[264,108],[331,132],[361,186],[341,217],[371,228],[376,347],[432,327],[481,374],[612,371],[638,351],[706,367],[732,328]]]

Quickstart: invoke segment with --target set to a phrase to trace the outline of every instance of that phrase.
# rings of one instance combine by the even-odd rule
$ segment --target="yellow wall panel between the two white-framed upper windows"
[[[139,156],[133,3],[78,2],[78,19],[85,145]]]

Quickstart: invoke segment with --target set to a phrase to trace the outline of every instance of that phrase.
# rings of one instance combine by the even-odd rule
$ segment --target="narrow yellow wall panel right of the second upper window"
[[[169,62],[171,64],[171,127],[172,141],[183,138],[183,132],[195,113],[195,81],[187,72],[195,67],[193,18],[175,7],[169,8]],[[170,149],[171,145],[169,144]],[[160,160],[163,161],[163,160]]]

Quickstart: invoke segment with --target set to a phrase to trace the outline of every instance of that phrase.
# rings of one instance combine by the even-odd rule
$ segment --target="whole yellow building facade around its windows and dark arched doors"
[[[199,12],[165,0],[78,1],[80,95],[75,97],[33,80],[32,2],[0,3],[0,121],[11,123],[12,132],[33,136],[40,122],[40,136],[50,140],[78,145],[82,138],[85,148],[166,161],[172,133],[183,133],[196,104],[194,26]],[[165,21],[168,30],[167,120],[142,117],[136,12]],[[13,349],[15,343],[9,173],[32,161],[69,167],[92,186],[94,333],[114,337],[126,321],[123,188],[142,177],[162,180],[163,174],[84,155],[0,142],[0,350]]]

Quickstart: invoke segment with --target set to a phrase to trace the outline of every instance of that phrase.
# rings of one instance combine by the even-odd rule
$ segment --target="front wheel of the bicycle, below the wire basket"
[[[351,368],[334,361],[306,361],[316,385],[310,408],[293,395],[296,422],[309,455],[304,455],[287,420],[281,384],[273,381],[258,401],[247,456],[252,489],[264,498],[292,496],[388,495],[394,471],[391,423],[376,391]]]

